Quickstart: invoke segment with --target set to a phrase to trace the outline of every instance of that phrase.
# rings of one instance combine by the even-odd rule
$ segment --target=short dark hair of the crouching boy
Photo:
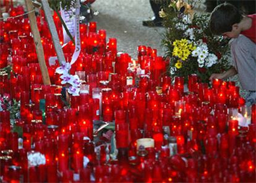
[[[242,14],[238,9],[229,3],[223,3],[215,7],[211,12],[210,30],[216,35],[224,32],[231,32],[232,25],[242,20]]]

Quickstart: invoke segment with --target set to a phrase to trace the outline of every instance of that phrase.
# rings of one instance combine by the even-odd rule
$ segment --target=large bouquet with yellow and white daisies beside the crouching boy
[[[166,28],[163,39],[165,57],[169,59],[172,77],[184,77],[187,82],[188,75],[197,74],[202,82],[208,83],[211,74],[230,67],[228,40],[212,35],[208,27],[210,14],[200,14],[192,7],[178,0],[161,9],[160,16]]]

